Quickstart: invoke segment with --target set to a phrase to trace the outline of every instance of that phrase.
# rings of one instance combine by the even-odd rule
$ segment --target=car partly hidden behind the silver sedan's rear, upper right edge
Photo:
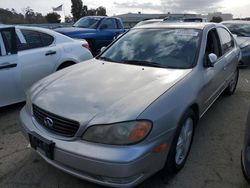
[[[241,49],[240,66],[250,66],[250,21],[225,21],[222,22],[235,35],[236,41]]]

